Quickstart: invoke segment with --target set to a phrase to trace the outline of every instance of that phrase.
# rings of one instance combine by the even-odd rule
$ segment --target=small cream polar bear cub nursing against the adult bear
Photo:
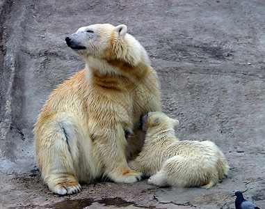
[[[161,187],[204,187],[216,185],[227,175],[227,160],[211,141],[179,141],[179,121],[161,112],[142,118],[145,144],[129,167],[151,176],[148,184]]]

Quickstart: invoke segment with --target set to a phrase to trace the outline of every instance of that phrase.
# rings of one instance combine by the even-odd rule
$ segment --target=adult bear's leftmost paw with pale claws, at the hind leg
[[[75,194],[81,191],[81,185],[79,185],[77,180],[72,180],[70,178],[54,180],[54,183],[48,186],[51,192],[59,195]]]

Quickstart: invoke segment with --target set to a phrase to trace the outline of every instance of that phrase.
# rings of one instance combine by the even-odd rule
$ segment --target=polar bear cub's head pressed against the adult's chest
[[[174,128],[179,125],[179,121],[166,116],[161,111],[154,111],[142,116],[140,125],[145,132],[174,132]]]

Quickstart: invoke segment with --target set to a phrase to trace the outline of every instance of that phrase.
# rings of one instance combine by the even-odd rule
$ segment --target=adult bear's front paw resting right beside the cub
[[[114,180],[115,183],[129,184],[129,183],[135,183],[138,180],[142,180],[143,176],[144,176],[143,173],[126,168],[122,169],[122,171],[118,173],[118,175],[115,176],[115,178],[112,179]]]

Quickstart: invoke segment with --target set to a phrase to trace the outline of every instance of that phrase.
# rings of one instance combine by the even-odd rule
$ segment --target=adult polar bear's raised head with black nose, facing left
[[[149,61],[145,49],[129,33],[127,26],[120,24],[93,24],[83,26],[65,38],[68,47],[74,49],[87,63],[91,59],[123,61],[130,65]]]

